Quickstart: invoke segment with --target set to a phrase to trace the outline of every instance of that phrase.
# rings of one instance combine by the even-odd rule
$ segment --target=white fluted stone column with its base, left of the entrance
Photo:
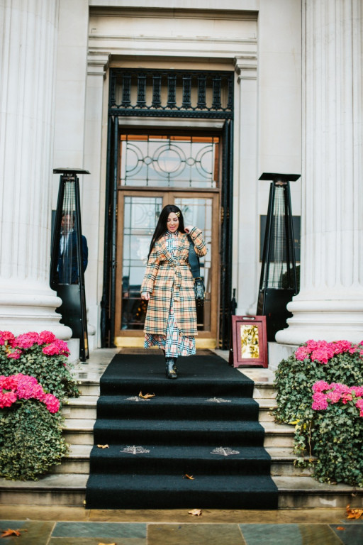
[[[0,0],[0,329],[60,338],[49,287],[57,0]]]

